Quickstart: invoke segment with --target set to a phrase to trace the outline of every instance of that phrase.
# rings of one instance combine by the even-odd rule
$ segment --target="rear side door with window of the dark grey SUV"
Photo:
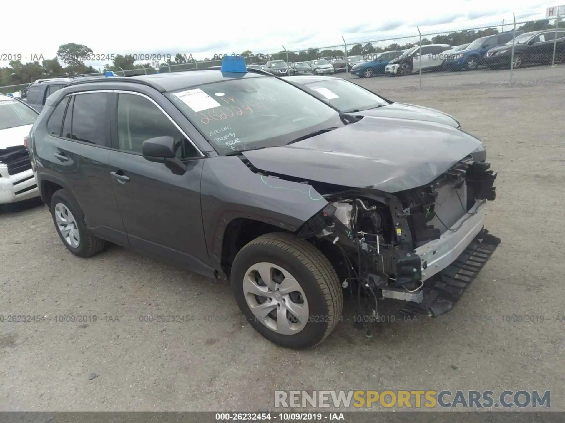
[[[51,171],[67,182],[86,226],[104,239],[127,246],[108,166],[109,101],[109,92],[85,92],[68,95],[57,105],[47,120]]]

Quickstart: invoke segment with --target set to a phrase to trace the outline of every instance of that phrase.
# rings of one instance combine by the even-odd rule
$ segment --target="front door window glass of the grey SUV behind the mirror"
[[[151,100],[137,94],[118,95],[120,150],[142,154],[143,142],[157,136],[175,139],[177,157],[197,157],[198,152]],[[181,147],[182,146],[182,147]]]

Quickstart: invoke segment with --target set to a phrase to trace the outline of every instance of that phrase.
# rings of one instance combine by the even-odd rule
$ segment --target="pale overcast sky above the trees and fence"
[[[561,0],[565,3],[565,0]],[[192,54],[195,59],[214,54],[251,50],[282,50],[348,45],[374,39],[396,39],[423,33],[456,30],[481,24],[511,23],[545,16],[553,3],[536,0],[451,0],[407,2],[281,2],[246,0],[244,3],[214,0],[144,3],[112,0],[72,3],[48,12],[44,1],[28,0],[25,7],[6,1],[2,15],[15,26],[0,38],[2,54],[22,54],[52,59],[59,45],[84,44],[95,54],[161,53]],[[70,5],[71,3],[69,3]],[[46,28],[29,32],[26,28]],[[508,27],[510,29],[511,27]],[[505,27],[506,29],[506,27]],[[18,32],[21,30],[21,33]],[[406,39],[414,42],[416,38]],[[0,57],[1,59],[1,57]],[[103,62],[87,63],[95,67]],[[6,66],[7,62],[0,62]]]

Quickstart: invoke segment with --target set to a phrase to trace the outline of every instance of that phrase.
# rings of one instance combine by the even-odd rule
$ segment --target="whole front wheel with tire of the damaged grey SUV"
[[[336,271],[314,245],[290,233],[267,233],[245,245],[233,261],[231,284],[249,324],[283,347],[314,346],[341,319]]]

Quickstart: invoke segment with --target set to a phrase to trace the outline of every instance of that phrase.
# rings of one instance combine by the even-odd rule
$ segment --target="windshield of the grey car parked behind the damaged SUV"
[[[328,100],[329,104],[342,113],[362,111],[389,104],[378,95],[341,78],[310,82],[305,85],[317,91]]]

